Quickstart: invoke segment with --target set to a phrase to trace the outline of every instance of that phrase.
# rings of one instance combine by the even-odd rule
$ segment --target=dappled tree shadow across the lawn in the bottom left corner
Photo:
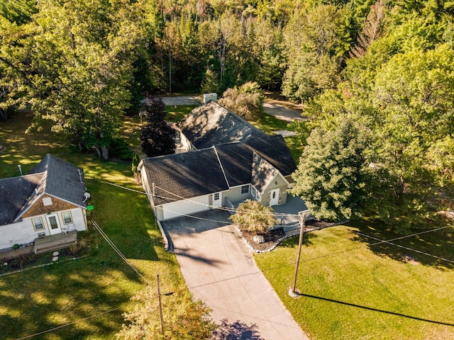
[[[128,286],[140,285],[130,268],[115,262],[88,257],[1,278],[0,338],[18,339],[73,322],[49,336],[114,334],[123,322],[123,309],[116,309],[131,297]],[[125,280],[127,285],[118,284]]]

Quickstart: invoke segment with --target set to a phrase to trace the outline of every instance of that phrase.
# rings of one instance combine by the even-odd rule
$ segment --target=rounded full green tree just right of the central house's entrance
[[[292,174],[291,193],[301,196],[318,218],[345,220],[360,215],[367,196],[365,138],[346,120],[336,130],[316,128]]]

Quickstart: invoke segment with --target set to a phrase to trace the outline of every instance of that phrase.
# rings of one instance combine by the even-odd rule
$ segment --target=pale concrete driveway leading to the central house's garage
[[[210,210],[162,222],[195,299],[211,307],[213,339],[308,339],[284,308],[233,225]],[[218,222],[214,222],[218,221]]]

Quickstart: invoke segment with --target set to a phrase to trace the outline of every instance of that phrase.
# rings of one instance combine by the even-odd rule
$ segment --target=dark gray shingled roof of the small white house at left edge
[[[28,175],[0,180],[0,225],[18,220],[44,194],[85,208],[83,181],[82,169],[47,154]]]

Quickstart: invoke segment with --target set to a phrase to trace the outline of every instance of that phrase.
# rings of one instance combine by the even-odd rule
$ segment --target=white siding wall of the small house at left
[[[74,227],[78,231],[87,229],[87,222],[85,218],[85,212],[82,208],[74,208],[70,211],[72,215],[72,222]],[[64,225],[63,217],[61,212],[56,212],[58,216],[58,222],[60,227]],[[33,227],[32,218],[41,217],[43,220],[44,229],[35,231]],[[0,225],[0,249],[11,248],[14,244],[26,244],[33,242],[38,238],[38,233],[44,232],[46,235],[50,235],[49,227],[45,215],[38,215],[28,217],[22,221],[12,223],[11,225]]]

